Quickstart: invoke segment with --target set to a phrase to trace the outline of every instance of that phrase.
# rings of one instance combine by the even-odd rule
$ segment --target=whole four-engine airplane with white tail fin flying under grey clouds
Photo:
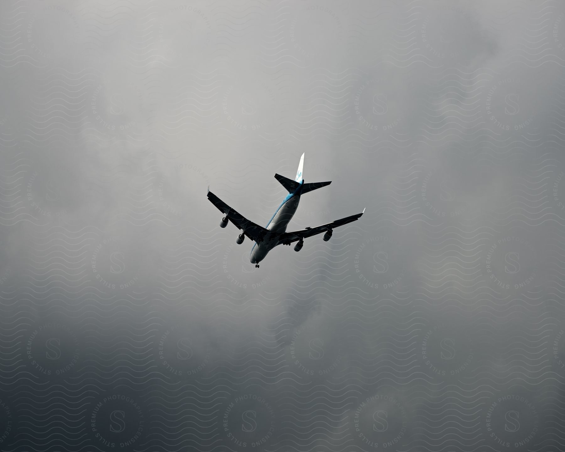
[[[298,171],[294,180],[275,173],[275,179],[288,190],[288,195],[282,200],[281,205],[277,208],[264,228],[248,220],[225,202],[221,201],[214,193],[210,192],[210,186],[208,185],[208,199],[210,199],[210,202],[214,204],[214,206],[218,207],[220,212],[225,214],[220,221],[220,228],[225,228],[228,225],[228,221],[231,221],[242,231],[236,239],[238,245],[243,243],[245,236],[255,242],[253,248],[251,248],[249,260],[252,264],[255,264],[256,268],[259,268],[259,262],[261,262],[275,246],[281,244],[290,245],[292,242],[298,241],[294,246],[294,251],[300,251],[304,245],[305,238],[315,236],[322,232],[324,232],[323,239],[327,242],[332,237],[333,228],[358,220],[365,212],[365,209],[363,209],[363,212],[360,214],[346,216],[345,218],[322,224],[315,228],[308,227],[301,231],[286,232],[286,227],[298,208],[301,195],[332,183],[332,181],[328,181],[305,184],[304,179],[302,179],[303,165],[304,154],[302,154],[300,158]]]

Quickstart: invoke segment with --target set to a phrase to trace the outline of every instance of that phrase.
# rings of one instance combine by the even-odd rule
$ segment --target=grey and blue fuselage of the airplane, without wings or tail
[[[290,220],[292,220],[292,217],[298,208],[303,183],[304,180],[302,180],[294,193],[290,193],[286,196],[279,208],[275,211],[275,214],[271,217],[269,223],[267,223],[266,228],[268,231],[272,231],[273,234],[267,234],[262,242],[255,242],[253,248],[251,248],[249,260],[252,264],[258,264],[261,262],[267,256],[269,251],[271,251],[275,246],[280,245],[281,242],[278,238],[280,237],[279,234],[286,232],[286,227]]]

